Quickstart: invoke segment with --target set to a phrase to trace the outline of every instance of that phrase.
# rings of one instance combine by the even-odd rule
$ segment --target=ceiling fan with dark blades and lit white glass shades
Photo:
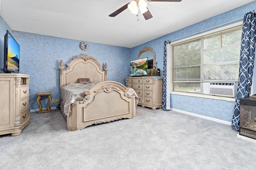
[[[148,0],[148,1],[149,2],[154,2],[154,1],[157,1],[157,2],[180,2],[182,0]],[[121,8],[119,8],[118,10],[116,10],[115,12],[110,14],[109,16],[115,17],[118,14],[120,14],[121,12],[123,12],[124,10],[126,10],[126,8],[128,8],[132,14],[137,14],[137,16],[138,16],[138,8],[139,8],[140,12],[144,16],[145,20],[148,20],[153,17],[147,8],[147,3],[144,0],[133,0],[132,2],[125,4],[124,6],[122,6]]]

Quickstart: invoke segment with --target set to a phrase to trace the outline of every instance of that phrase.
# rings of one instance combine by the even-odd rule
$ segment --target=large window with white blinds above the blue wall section
[[[238,82],[242,25],[172,44],[173,91],[202,93],[203,82]]]

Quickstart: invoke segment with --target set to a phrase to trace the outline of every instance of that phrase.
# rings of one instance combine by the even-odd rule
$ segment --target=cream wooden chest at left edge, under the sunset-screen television
[[[0,135],[18,136],[28,125],[29,80],[26,74],[0,74]]]

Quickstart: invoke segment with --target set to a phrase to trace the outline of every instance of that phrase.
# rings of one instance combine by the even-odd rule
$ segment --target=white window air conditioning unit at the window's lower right
[[[210,82],[210,95],[236,97],[236,82]]]

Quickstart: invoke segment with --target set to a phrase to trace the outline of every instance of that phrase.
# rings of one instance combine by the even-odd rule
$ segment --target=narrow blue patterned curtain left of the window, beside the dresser
[[[171,41],[164,41],[164,70],[163,70],[163,97],[162,97],[162,109],[167,111],[170,106],[167,106],[166,103],[167,103],[167,100],[170,100],[170,95],[167,94],[167,76],[170,76],[170,75],[167,75],[167,57],[166,57],[166,54],[167,54],[167,50],[166,50],[166,45],[170,44]],[[169,97],[169,99],[167,98]]]

